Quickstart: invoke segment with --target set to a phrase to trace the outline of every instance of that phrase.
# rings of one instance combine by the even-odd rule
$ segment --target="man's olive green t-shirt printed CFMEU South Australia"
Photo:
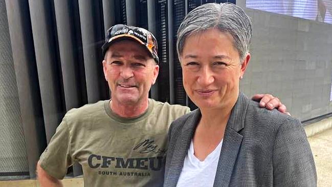
[[[109,100],[72,109],[40,156],[41,168],[62,179],[77,161],[84,186],[162,186],[169,125],[188,112],[153,99],[135,118],[113,113]]]

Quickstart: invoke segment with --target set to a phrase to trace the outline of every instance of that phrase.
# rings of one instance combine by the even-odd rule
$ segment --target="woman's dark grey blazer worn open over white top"
[[[164,186],[176,186],[199,109],[172,122]],[[313,155],[299,120],[240,93],[228,120],[213,186],[316,186]],[[195,186],[195,184],[192,184]]]

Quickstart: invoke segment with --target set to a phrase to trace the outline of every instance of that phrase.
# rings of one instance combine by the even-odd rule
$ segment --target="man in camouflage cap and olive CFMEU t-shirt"
[[[113,26],[102,49],[112,100],[64,116],[37,164],[41,186],[61,186],[58,179],[75,161],[85,186],[163,185],[169,124],[190,110],[148,98],[159,72],[157,40],[149,31]],[[271,95],[262,102],[269,100],[285,111]]]

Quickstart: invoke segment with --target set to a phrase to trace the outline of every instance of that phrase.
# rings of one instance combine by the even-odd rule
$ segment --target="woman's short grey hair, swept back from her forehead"
[[[188,13],[178,30],[176,50],[179,57],[189,35],[213,28],[232,35],[234,47],[242,61],[249,52],[251,19],[243,9],[231,3],[208,3]]]

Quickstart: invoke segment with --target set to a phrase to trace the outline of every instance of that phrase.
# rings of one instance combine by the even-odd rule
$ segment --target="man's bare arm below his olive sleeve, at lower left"
[[[62,187],[60,180],[49,175],[44,169],[40,167],[39,162],[37,163],[37,179],[40,187]]]

